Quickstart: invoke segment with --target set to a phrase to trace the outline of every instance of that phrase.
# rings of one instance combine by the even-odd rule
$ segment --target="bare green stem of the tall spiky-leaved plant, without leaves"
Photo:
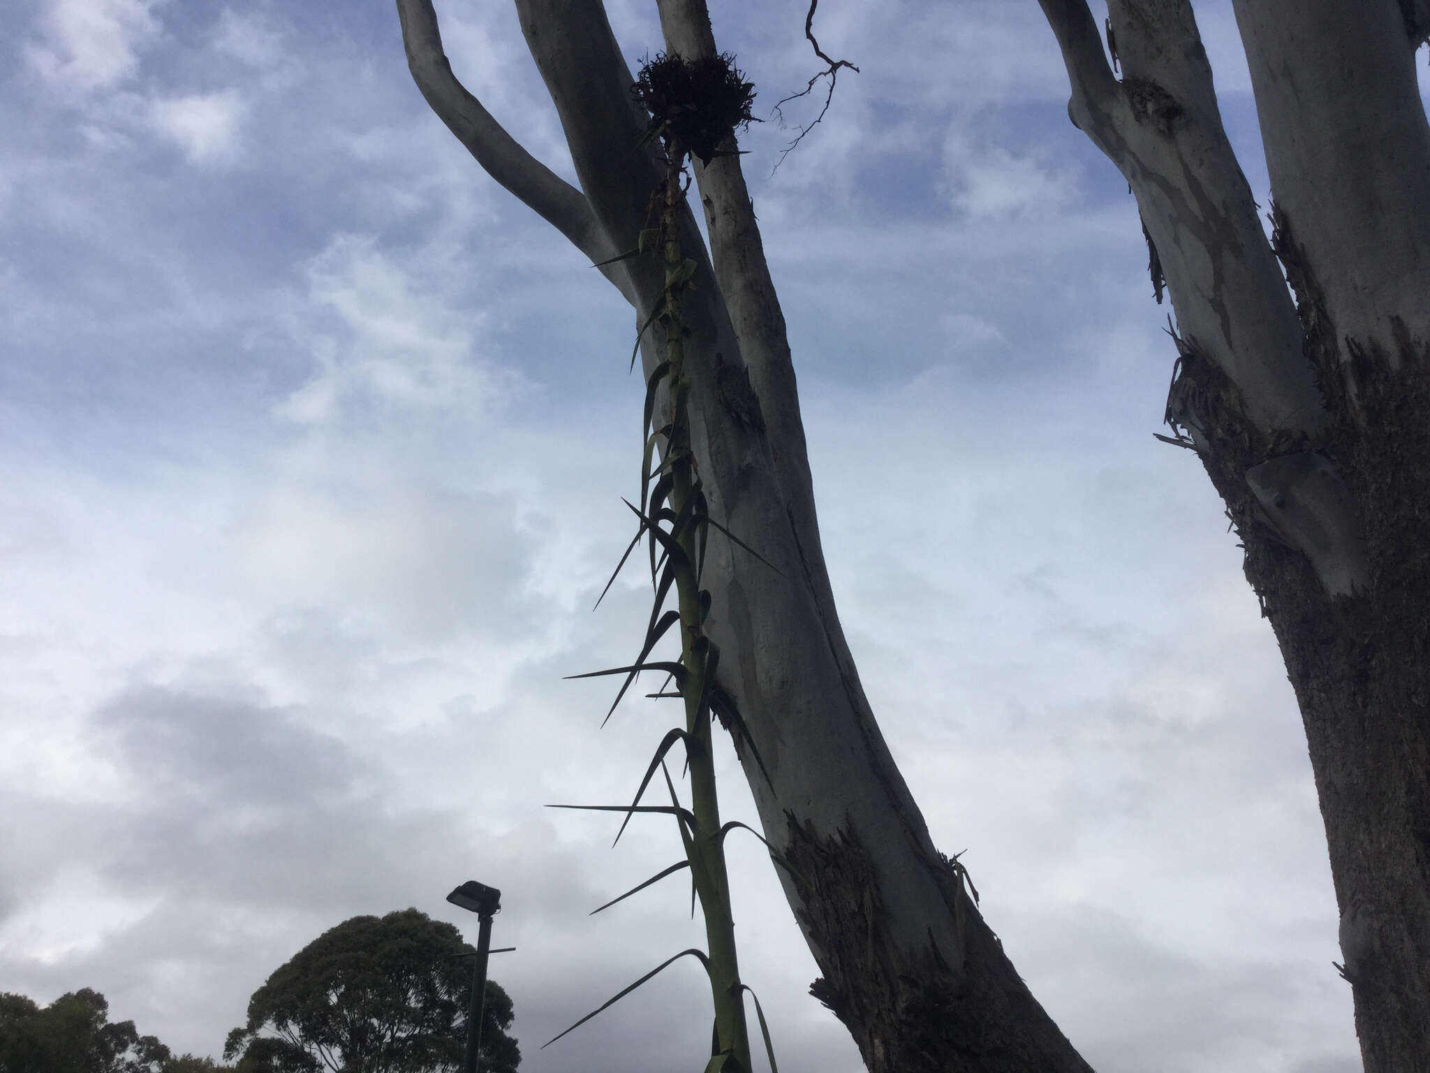
[[[665,180],[665,203],[661,213],[661,237],[665,255],[665,359],[671,363],[671,432],[666,451],[671,465],[671,506],[684,514],[696,494],[699,478],[691,455],[689,395],[691,381],[685,368],[685,336],[681,325],[679,292],[684,279],[684,258],[679,243],[679,209],[684,205],[681,187],[684,149],[669,147],[671,166]],[[745,1023],[745,1001],[739,987],[739,961],[735,954],[735,921],[731,913],[729,876],[725,850],[719,841],[719,797],[715,790],[715,754],[712,750],[711,712],[705,704],[709,661],[714,647],[701,624],[699,578],[695,577],[698,525],[686,524],[676,535],[685,564],[675,574],[675,588],[681,612],[681,655],[686,678],[685,722],[691,735],[688,744],[691,770],[691,810],[695,814],[691,873],[705,916],[705,937],[709,947],[711,993],[715,1004],[715,1034],[721,1052],[731,1052],[745,1073],[752,1070],[749,1059],[749,1030]]]

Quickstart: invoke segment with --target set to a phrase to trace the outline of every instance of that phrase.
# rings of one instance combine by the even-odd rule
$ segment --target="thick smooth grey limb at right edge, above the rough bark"
[[[1390,0],[1238,0],[1271,193],[1343,336],[1430,338],[1430,127]],[[1387,352],[1394,363],[1400,355]]]

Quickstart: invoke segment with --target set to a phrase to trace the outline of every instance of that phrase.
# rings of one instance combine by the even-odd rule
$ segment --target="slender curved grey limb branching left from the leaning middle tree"
[[[482,169],[565,235],[592,263],[619,253],[598,226],[585,195],[528,153],[458,82],[442,52],[432,0],[398,0],[398,17],[413,82]],[[628,275],[619,265],[605,265],[601,272],[635,305]]]

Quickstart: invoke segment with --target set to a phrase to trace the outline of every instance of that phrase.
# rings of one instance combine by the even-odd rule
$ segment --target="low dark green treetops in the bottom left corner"
[[[162,1073],[169,1047],[133,1021],[109,1020],[109,1001],[89,987],[40,1007],[0,994],[0,1073]]]

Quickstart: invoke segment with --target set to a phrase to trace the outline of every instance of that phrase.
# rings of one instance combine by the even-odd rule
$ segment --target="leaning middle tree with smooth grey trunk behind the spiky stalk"
[[[429,0],[398,0],[418,84],[478,162],[495,160],[493,176],[578,249],[633,248],[659,170],[654,150],[638,146],[645,117],[605,10],[599,0],[516,7],[571,149],[579,210],[450,77]],[[664,4],[662,21],[672,50],[714,50],[702,4]],[[682,300],[692,445],[712,516],[775,569],[715,538],[706,629],[724,654],[721,685],[769,773],[766,781],[736,740],[765,834],[799,874],[781,878],[824,973],[817,994],[877,1073],[1087,1070],[1018,979],[958,867],[932,846],[859,687],[819,551],[782,318],[738,176],[734,160],[699,173],[714,269],[694,217],[682,232],[699,262]],[[621,268],[613,282],[644,322],[664,283],[659,265]],[[648,373],[661,346],[642,346]]]

